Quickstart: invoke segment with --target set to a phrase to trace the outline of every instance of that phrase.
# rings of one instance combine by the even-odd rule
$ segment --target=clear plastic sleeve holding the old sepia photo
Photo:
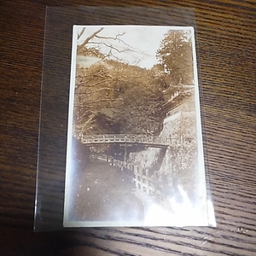
[[[139,40],[135,30],[152,32],[151,38]],[[136,46],[125,39],[129,32]],[[184,67],[188,61],[177,67],[181,72],[173,71],[170,48],[165,49],[175,37],[190,47],[189,53],[172,52],[182,60],[190,55],[189,67]],[[160,41],[158,62],[150,67],[142,64],[149,55],[139,46],[143,40],[145,49]],[[205,168],[196,49],[194,9],[47,8],[34,230],[216,225]],[[131,63],[114,50],[128,51],[140,61]],[[188,68],[192,77],[185,78]],[[131,92],[131,86],[138,89]],[[95,91],[101,92],[91,96]],[[136,93],[141,97],[137,105],[132,103]],[[141,110],[126,113],[121,98],[127,108]],[[107,100],[111,104],[102,105]],[[145,103],[153,100],[150,111],[158,109],[155,114]],[[141,123],[135,125],[136,119]],[[100,168],[108,173],[101,174]]]

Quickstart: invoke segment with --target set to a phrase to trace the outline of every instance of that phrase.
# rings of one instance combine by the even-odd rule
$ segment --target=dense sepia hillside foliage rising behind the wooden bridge
[[[75,136],[84,132],[158,134],[163,102],[159,77],[147,69],[113,60],[77,67]]]

